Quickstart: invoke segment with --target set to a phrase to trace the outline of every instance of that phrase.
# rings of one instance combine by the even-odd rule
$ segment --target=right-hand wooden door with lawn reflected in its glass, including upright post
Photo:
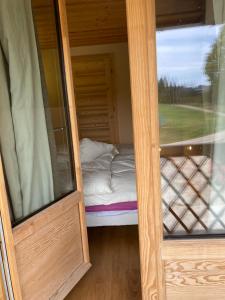
[[[221,300],[225,3],[126,2],[143,299]]]

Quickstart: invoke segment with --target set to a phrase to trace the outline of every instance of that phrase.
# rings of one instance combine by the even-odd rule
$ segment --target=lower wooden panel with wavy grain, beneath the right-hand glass
[[[165,276],[167,300],[223,299],[224,260],[168,260]]]

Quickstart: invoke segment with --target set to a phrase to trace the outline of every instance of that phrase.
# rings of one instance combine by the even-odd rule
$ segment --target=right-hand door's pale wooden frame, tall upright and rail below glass
[[[225,259],[225,240],[218,238],[163,240],[155,0],[126,0],[126,8],[137,172],[142,299],[163,300],[167,299],[166,295],[174,299],[173,290],[177,293],[175,298],[181,299],[179,283],[173,278],[169,279],[170,271],[166,271],[166,264],[176,265],[182,260],[194,263],[196,260],[196,264],[216,260],[218,264],[222,264]],[[186,279],[185,274],[183,279]],[[171,286],[172,281],[174,284]],[[192,289],[191,285],[190,288]],[[225,286],[221,287],[222,290],[225,290]],[[198,295],[201,292],[202,290]],[[195,290],[192,296],[196,296]]]

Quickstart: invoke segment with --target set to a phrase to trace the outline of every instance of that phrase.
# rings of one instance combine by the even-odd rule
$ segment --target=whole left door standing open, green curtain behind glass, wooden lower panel
[[[90,267],[65,3],[2,1],[0,23],[0,198],[14,297],[62,299]]]

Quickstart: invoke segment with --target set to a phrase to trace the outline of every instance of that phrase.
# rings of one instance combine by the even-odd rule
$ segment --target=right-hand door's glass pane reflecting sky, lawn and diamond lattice
[[[225,1],[156,3],[165,237],[224,234]]]

